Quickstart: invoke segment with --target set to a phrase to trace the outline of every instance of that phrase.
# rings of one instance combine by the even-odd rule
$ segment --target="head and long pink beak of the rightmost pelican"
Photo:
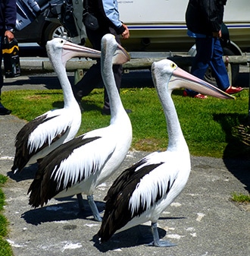
[[[214,85],[183,71],[183,69],[179,68],[169,59],[154,62],[152,64],[152,74],[155,83],[167,84],[167,88],[158,88],[158,90],[167,89],[168,93],[172,93],[174,89],[184,87],[195,90],[198,93],[203,93],[220,99],[234,99],[233,96],[223,92],[223,90],[220,90],[217,87],[214,87]]]

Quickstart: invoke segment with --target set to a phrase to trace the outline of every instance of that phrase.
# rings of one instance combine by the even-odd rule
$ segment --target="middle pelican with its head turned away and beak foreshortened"
[[[123,108],[112,71],[112,63],[123,64],[129,59],[113,35],[102,38],[102,78],[110,100],[110,125],[80,135],[42,159],[28,191],[33,207],[42,207],[51,198],[83,193],[87,195],[94,219],[102,221],[93,200],[95,187],[118,169],[132,141],[130,119]]]

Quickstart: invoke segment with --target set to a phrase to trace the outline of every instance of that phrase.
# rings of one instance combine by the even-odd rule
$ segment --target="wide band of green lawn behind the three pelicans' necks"
[[[248,115],[248,90],[237,95],[236,100],[207,100],[182,96],[182,90],[173,92],[183,129],[183,134],[194,156],[224,158],[248,158],[249,147],[233,134],[233,128],[245,122]],[[135,150],[165,150],[167,128],[164,112],[155,88],[122,89],[123,106],[132,109],[130,120],[133,125]],[[13,115],[30,121],[49,109],[63,107],[61,90],[15,90],[3,93],[2,103],[12,109]],[[100,114],[103,106],[103,90],[95,89],[82,103],[85,112],[78,134],[109,124],[110,117]]]

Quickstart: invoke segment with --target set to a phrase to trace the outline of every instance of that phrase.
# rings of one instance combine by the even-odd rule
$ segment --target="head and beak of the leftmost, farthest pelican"
[[[79,46],[61,38],[55,38],[48,41],[46,44],[46,50],[51,62],[61,61],[64,66],[66,65],[66,62],[73,57],[101,58],[100,51],[90,49],[85,46]],[[56,56],[57,52],[61,55],[61,59],[59,56]]]

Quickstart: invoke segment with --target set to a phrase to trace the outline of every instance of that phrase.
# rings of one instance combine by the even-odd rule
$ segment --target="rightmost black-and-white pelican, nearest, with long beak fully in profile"
[[[167,59],[153,63],[152,76],[164,109],[169,144],[166,151],[145,156],[114,181],[105,197],[105,213],[97,234],[99,242],[107,241],[115,232],[151,221],[153,242],[150,245],[173,245],[159,239],[157,221],[183,190],[191,165],[189,148],[171,98],[172,90],[188,87],[211,96],[231,97]]]

